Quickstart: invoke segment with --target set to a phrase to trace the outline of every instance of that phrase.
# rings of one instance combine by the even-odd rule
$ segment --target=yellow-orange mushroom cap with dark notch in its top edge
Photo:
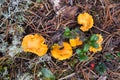
[[[62,48],[62,46],[59,46],[58,44],[54,44],[52,46],[51,54],[54,58],[58,60],[65,60],[72,56],[73,51],[69,43],[63,42],[63,48],[60,48]]]

